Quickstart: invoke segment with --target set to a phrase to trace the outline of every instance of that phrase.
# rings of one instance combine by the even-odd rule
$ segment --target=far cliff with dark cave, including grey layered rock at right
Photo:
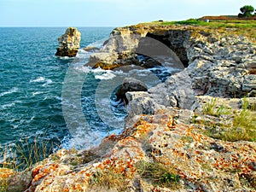
[[[192,26],[116,28],[101,52],[91,55],[89,64],[106,69],[131,64],[143,67],[137,54],[157,60],[170,50],[174,53],[172,58],[176,56],[187,67],[185,72],[191,78],[195,95],[255,96],[256,46],[229,30],[230,35]],[[166,48],[162,48],[164,45]]]

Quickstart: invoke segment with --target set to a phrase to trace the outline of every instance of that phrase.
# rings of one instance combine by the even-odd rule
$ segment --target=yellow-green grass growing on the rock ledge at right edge
[[[216,99],[212,99],[204,106],[203,113],[215,117],[229,115],[232,119],[232,125],[207,120],[198,122],[207,127],[207,131],[205,131],[207,136],[229,142],[256,141],[256,113],[254,108],[249,108],[246,99],[243,99],[241,110],[232,110],[224,106],[217,107]]]

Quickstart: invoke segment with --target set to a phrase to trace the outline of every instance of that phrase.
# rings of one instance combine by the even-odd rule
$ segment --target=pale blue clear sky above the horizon
[[[0,26],[127,26],[238,15],[255,0],[0,0]]]

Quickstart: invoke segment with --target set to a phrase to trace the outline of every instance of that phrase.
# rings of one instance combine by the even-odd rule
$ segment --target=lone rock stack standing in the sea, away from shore
[[[80,48],[81,33],[76,27],[68,27],[65,34],[58,38],[60,46],[55,55],[74,57]]]

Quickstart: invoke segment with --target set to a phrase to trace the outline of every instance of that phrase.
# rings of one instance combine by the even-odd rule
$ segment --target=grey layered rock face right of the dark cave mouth
[[[253,96],[256,76],[255,49],[245,37],[216,38],[201,36],[188,49],[192,86],[198,95],[243,97]]]

